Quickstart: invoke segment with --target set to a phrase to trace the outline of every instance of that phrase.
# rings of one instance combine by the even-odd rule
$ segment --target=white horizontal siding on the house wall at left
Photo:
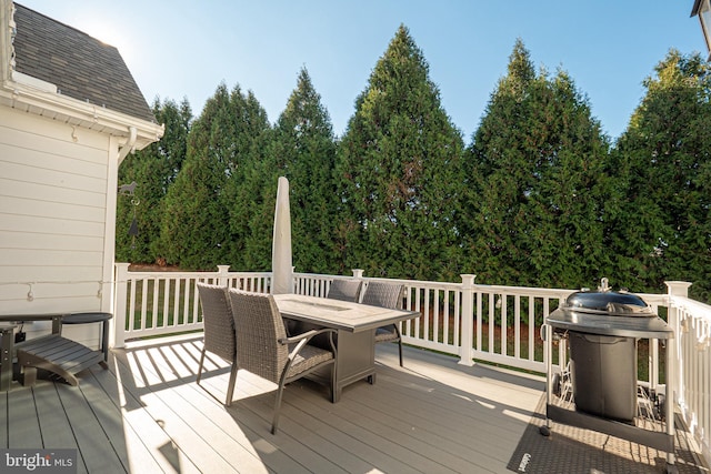
[[[0,107],[0,314],[110,311],[117,153],[107,134]],[[98,326],[63,334],[96,345]]]

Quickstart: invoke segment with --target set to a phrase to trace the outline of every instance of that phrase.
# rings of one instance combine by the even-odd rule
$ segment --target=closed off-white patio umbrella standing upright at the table
[[[271,249],[272,294],[293,293],[291,261],[291,212],[289,211],[289,180],[279,178],[274,208],[274,235]]]

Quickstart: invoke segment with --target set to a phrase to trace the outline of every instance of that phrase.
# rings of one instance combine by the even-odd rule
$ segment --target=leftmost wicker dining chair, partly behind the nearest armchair
[[[237,381],[238,363],[234,317],[232,317],[232,306],[228,297],[227,286],[198,283],[198,295],[200,297],[200,305],[202,306],[204,336],[196,382],[200,385],[206,352],[211,352],[230,362],[232,366],[227,387],[227,400],[224,402],[226,406],[230,406],[234,393],[234,382]],[[203,387],[203,390],[208,392],[207,389]]]

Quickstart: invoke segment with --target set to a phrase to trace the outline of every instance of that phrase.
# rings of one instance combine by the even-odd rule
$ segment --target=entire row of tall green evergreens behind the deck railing
[[[219,85],[194,121],[187,102],[157,101],[163,139],[120,168],[138,184],[119,196],[117,258],[269,271],[284,175],[300,272],[544,288],[607,276],[634,292],[684,280],[709,301],[709,78],[698,54],[671,50],[611,148],[572,78],[537,72],[518,40],[464,149],[401,26],[341,139],[306,68],[273,127],[239,87]]]

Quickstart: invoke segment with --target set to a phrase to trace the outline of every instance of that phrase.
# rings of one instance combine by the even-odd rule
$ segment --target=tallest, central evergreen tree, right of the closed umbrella
[[[419,280],[460,273],[452,252],[462,149],[422,52],[401,26],[339,147],[341,271]]]

